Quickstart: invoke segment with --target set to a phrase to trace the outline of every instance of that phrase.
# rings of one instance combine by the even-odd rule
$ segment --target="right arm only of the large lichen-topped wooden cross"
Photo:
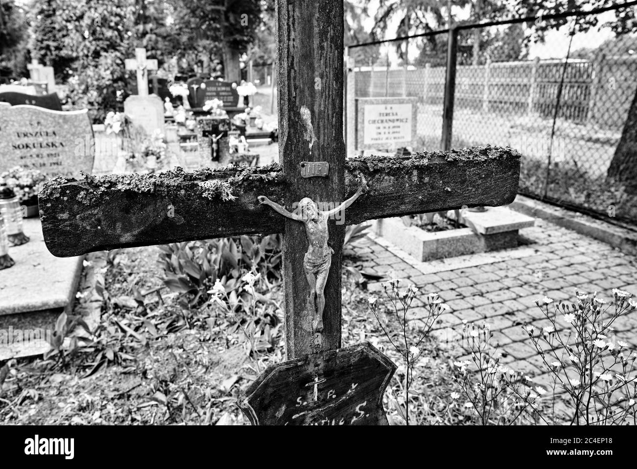
[[[463,206],[510,204],[520,179],[520,155],[510,147],[470,147],[394,158],[361,156],[347,160],[347,167],[348,194],[359,172],[369,186],[369,192],[345,212],[347,225]]]

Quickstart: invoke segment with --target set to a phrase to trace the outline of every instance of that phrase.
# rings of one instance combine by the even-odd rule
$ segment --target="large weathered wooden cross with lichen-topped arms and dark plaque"
[[[283,233],[289,361],[252,383],[241,407],[252,422],[262,424],[387,424],[381,400],[394,364],[369,344],[341,348],[345,224],[462,205],[509,204],[517,193],[519,158],[511,149],[481,147],[346,160],[343,1],[278,0],[276,6],[280,165],[57,178],[40,193],[43,233],[48,249],[61,257]],[[308,171],[308,163],[316,170]],[[315,292],[304,267],[304,223],[281,216],[257,198],[266,196],[290,211],[306,197],[319,208],[336,207],[364,181],[368,190],[345,211],[345,220],[328,223],[334,253],[318,331]],[[227,191],[236,198],[228,198]]]

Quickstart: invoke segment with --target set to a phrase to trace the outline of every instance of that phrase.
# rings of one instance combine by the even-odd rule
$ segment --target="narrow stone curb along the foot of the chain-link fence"
[[[614,248],[619,248],[623,253],[637,255],[637,232],[520,194],[515,197],[509,207],[515,211],[550,221],[560,227],[603,241]]]

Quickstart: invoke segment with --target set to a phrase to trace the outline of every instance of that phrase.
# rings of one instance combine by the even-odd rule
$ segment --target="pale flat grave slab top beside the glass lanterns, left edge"
[[[9,248],[15,265],[0,271],[0,324],[3,315],[68,310],[73,306],[83,256],[54,257],[45,245],[39,219],[25,218],[31,241]]]

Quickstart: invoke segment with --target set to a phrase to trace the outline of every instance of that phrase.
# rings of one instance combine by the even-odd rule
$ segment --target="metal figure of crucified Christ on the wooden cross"
[[[323,331],[324,290],[329,267],[332,265],[332,255],[334,254],[334,249],[328,243],[327,220],[354,204],[354,201],[366,190],[368,190],[367,182],[363,179],[361,188],[352,197],[345,200],[338,207],[327,211],[318,210],[316,202],[309,197],[301,199],[295,213],[287,211],[282,205],[272,202],[264,195],[257,197],[261,204],[269,205],[283,216],[305,224],[305,233],[308,237],[309,246],[303,259],[303,267],[310,284],[310,305],[314,310],[312,323],[314,332]],[[340,218],[340,220],[345,220],[345,218]]]

